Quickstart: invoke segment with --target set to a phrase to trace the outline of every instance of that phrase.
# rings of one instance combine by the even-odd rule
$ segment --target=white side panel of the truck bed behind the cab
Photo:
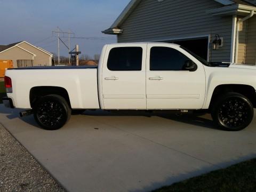
[[[5,75],[12,79],[13,89],[7,96],[13,99],[16,108],[29,109],[33,87],[61,87],[67,91],[72,109],[98,109],[97,72],[94,66],[7,69]]]

